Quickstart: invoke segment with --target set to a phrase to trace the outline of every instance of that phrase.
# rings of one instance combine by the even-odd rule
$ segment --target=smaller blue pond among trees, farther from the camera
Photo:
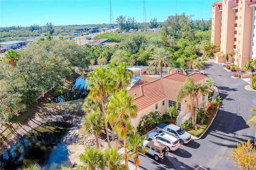
[[[74,85],[70,85],[70,88],[66,90],[66,93],[58,95],[55,98],[55,102],[63,103],[72,100],[84,99],[89,93],[87,90],[88,83],[85,82],[85,79],[86,78],[78,77]]]

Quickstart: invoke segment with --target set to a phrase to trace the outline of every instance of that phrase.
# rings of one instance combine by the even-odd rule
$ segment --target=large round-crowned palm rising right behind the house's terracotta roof
[[[156,48],[154,54],[150,57],[152,59],[151,63],[158,65],[161,68],[161,77],[162,77],[162,67],[165,65],[171,65],[169,59],[169,51],[166,51],[164,47]]]

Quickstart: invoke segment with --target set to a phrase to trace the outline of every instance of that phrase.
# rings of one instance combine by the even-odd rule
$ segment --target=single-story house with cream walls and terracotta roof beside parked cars
[[[142,75],[136,84],[128,90],[128,93],[134,97],[133,104],[138,107],[137,118],[131,119],[132,125],[135,128],[138,127],[141,118],[150,112],[159,111],[163,114],[166,113],[168,107],[176,107],[176,94],[187,77],[192,77],[195,83],[205,84],[208,76],[199,73],[191,73],[189,75],[173,73],[160,79]],[[202,94],[198,98],[198,106],[202,106],[203,103],[207,104],[207,98]],[[184,115],[190,112],[188,97],[180,101],[178,111],[183,111]]]

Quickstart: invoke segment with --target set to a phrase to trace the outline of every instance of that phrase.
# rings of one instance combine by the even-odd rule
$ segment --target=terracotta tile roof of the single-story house
[[[190,75],[174,73],[165,76],[162,79],[157,78],[132,88],[128,90],[128,93],[134,97],[133,104],[138,106],[138,112],[140,112],[164,99],[176,101],[176,94],[178,93],[180,86],[186,81],[187,77],[192,77],[195,82],[198,82],[206,79],[208,76],[198,73],[192,73]],[[143,79],[150,78],[145,76]],[[188,97],[185,97],[182,102],[185,102],[185,100],[188,101]]]

